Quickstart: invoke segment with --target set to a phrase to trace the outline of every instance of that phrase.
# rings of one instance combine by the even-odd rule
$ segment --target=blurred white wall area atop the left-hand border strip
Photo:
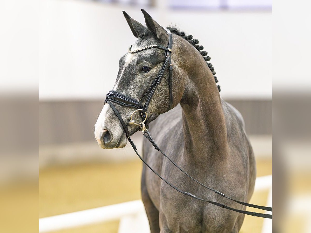
[[[38,1],[0,1],[0,93],[38,91]]]

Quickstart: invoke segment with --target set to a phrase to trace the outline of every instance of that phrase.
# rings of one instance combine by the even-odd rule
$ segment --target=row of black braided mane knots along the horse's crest
[[[183,39],[187,40],[189,43],[191,43],[201,53],[202,57],[206,61],[208,68],[211,70],[212,74],[214,75],[215,82],[218,83],[217,77],[215,76],[216,75],[215,69],[214,69],[212,63],[209,63],[209,61],[211,60],[211,57],[207,56],[206,51],[202,51],[204,47],[202,45],[198,45],[199,40],[193,39],[192,35],[187,36],[184,32],[180,32],[174,26],[168,26],[167,29],[170,30],[171,33],[179,35]],[[220,85],[217,85],[217,88],[218,88],[218,91],[220,92]]]

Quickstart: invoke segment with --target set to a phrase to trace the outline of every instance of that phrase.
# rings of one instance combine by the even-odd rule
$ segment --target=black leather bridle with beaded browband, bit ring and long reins
[[[142,160],[142,162],[144,162],[146,164],[147,167],[149,167],[151,169],[151,171],[153,171],[157,176],[160,177],[160,179],[162,179],[166,184],[168,184],[169,186],[171,186],[173,189],[177,190],[178,192],[182,193],[182,194],[185,194],[189,197],[192,197],[194,199],[198,199],[198,200],[201,200],[201,201],[205,201],[205,202],[208,202],[208,203],[211,203],[213,205],[216,205],[216,206],[220,206],[222,208],[226,208],[226,209],[229,209],[229,210],[232,210],[232,211],[235,211],[235,212],[239,212],[239,213],[243,213],[243,214],[246,214],[246,215],[251,215],[251,216],[256,216],[256,217],[263,217],[263,218],[272,218],[272,214],[265,214],[265,213],[258,213],[258,212],[251,212],[251,211],[245,211],[245,210],[240,210],[240,209],[235,209],[235,208],[231,208],[229,206],[226,206],[222,203],[218,203],[218,202],[215,202],[215,201],[210,201],[210,200],[206,200],[206,199],[202,199],[202,198],[199,198],[197,196],[195,196],[194,194],[191,194],[190,192],[186,192],[186,191],[183,191],[179,188],[177,188],[176,186],[172,185],[169,181],[167,181],[166,179],[164,179],[162,176],[160,176],[160,174],[158,174],[141,156],[140,154],[137,152],[137,148],[136,148],[136,145],[134,144],[134,142],[132,141],[131,137],[130,137],[130,133],[128,131],[128,125],[139,125],[140,127],[140,130],[142,130],[142,133],[144,135],[145,138],[147,138],[151,144],[154,146],[154,148],[158,151],[160,151],[164,156],[165,158],[167,158],[170,162],[172,162],[174,164],[175,167],[177,167],[180,171],[182,171],[185,175],[187,175],[190,179],[194,180],[195,182],[197,182],[198,184],[202,185],[203,187],[207,188],[208,190],[211,190],[213,192],[215,192],[216,194],[219,194],[227,199],[230,199],[236,203],[239,203],[239,204],[242,204],[244,206],[248,206],[248,207],[253,207],[253,208],[257,208],[257,209],[262,209],[262,210],[266,210],[266,211],[270,211],[272,212],[272,207],[266,207],[266,206],[260,206],[260,205],[254,205],[254,204],[250,204],[250,203],[245,203],[245,202],[242,202],[242,201],[238,201],[238,200],[235,200],[233,198],[230,198],[228,196],[226,196],[225,194],[217,191],[217,190],[214,190],[210,187],[207,187],[206,185],[202,184],[201,182],[197,181],[196,179],[194,179],[192,176],[190,176],[187,172],[183,171],[182,168],[180,168],[174,161],[172,161],[159,147],[158,145],[156,144],[156,142],[151,138],[151,135],[148,131],[148,124],[145,124],[144,122],[146,122],[146,119],[147,119],[147,110],[148,110],[148,106],[149,106],[149,103],[151,101],[151,98],[153,96],[153,94],[155,93],[156,91],[156,88],[158,87],[158,85],[160,84],[160,82],[162,81],[162,78],[165,74],[165,71],[167,69],[169,69],[169,80],[168,80],[168,83],[169,83],[169,99],[170,99],[170,102],[169,102],[169,107],[168,107],[168,110],[169,111],[172,107],[172,104],[173,104],[173,94],[172,94],[172,85],[173,85],[173,81],[172,81],[172,76],[173,76],[173,66],[172,66],[172,63],[171,63],[171,57],[170,57],[170,54],[172,53],[172,44],[173,44],[173,37],[172,37],[172,34],[171,32],[168,30],[168,29],[165,29],[169,35],[169,42],[168,42],[168,45],[167,47],[164,47],[162,45],[157,45],[157,44],[152,44],[152,45],[148,45],[148,46],[145,46],[143,48],[139,48],[139,49],[136,49],[136,50],[131,50],[132,46],[129,47],[128,49],[128,52],[129,53],[138,53],[140,51],[143,51],[143,50],[146,50],[146,49],[151,49],[151,48],[159,48],[159,49],[163,49],[165,50],[165,60],[164,60],[164,63],[163,63],[163,66],[162,68],[160,69],[158,75],[156,76],[155,80],[153,81],[153,83],[151,84],[150,88],[148,89],[148,91],[146,92],[146,94],[143,96],[143,98],[140,100],[140,101],[137,101],[136,99],[132,98],[132,97],[129,97],[123,93],[120,93],[118,91],[114,91],[114,90],[111,90],[107,93],[107,96],[106,96],[106,99],[105,99],[105,103],[108,103],[109,106],[112,108],[112,110],[114,111],[115,115],[118,117],[119,121],[121,122],[121,125],[125,131],[125,134],[126,134],[126,137],[129,141],[129,143],[132,145],[135,153],[137,154],[137,156]],[[144,105],[142,105],[142,103],[145,102]],[[117,104],[120,104],[124,107],[133,107],[133,108],[136,108],[136,110],[131,114],[131,117],[130,117],[130,121],[125,124],[125,122],[123,121],[120,113],[118,112],[118,110],[114,107],[114,104],[113,103],[117,103]],[[135,121],[132,120],[132,116],[135,112],[138,112],[138,111],[141,111],[141,114],[140,116],[142,117],[142,121],[140,123],[135,123]]]

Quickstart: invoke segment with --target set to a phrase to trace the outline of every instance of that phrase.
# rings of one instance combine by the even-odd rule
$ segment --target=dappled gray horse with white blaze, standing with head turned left
[[[142,10],[146,26],[124,16],[137,37],[132,50],[151,44],[166,47],[168,34]],[[184,171],[203,184],[248,202],[256,178],[252,147],[244,130],[241,114],[220,98],[214,69],[202,52],[173,33],[173,109],[169,106],[169,87],[162,81],[150,102],[147,114],[149,132],[159,147]],[[126,53],[119,61],[114,90],[140,100],[162,67],[165,54],[161,49]],[[210,64],[210,63],[208,63]],[[168,73],[168,72],[167,72]],[[164,80],[168,79],[168,74]],[[125,122],[135,110],[116,104]],[[134,116],[139,121],[139,115]],[[130,134],[139,126],[128,127]],[[104,104],[95,124],[95,137],[101,148],[122,148],[127,144],[123,127],[108,104]],[[193,182],[165,159],[148,140],[143,157],[161,176],[182,190],[198,197],[224,203],[233,208],[245,207]],[[172,189],[144,165],[142,200],[151,232],[238,232],[244,214],[192,199]]]

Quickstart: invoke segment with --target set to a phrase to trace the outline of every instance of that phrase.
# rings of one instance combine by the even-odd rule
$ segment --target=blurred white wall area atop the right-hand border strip
[[[311,2],[273,4],[273,85],[276,90],[311,91]]]

